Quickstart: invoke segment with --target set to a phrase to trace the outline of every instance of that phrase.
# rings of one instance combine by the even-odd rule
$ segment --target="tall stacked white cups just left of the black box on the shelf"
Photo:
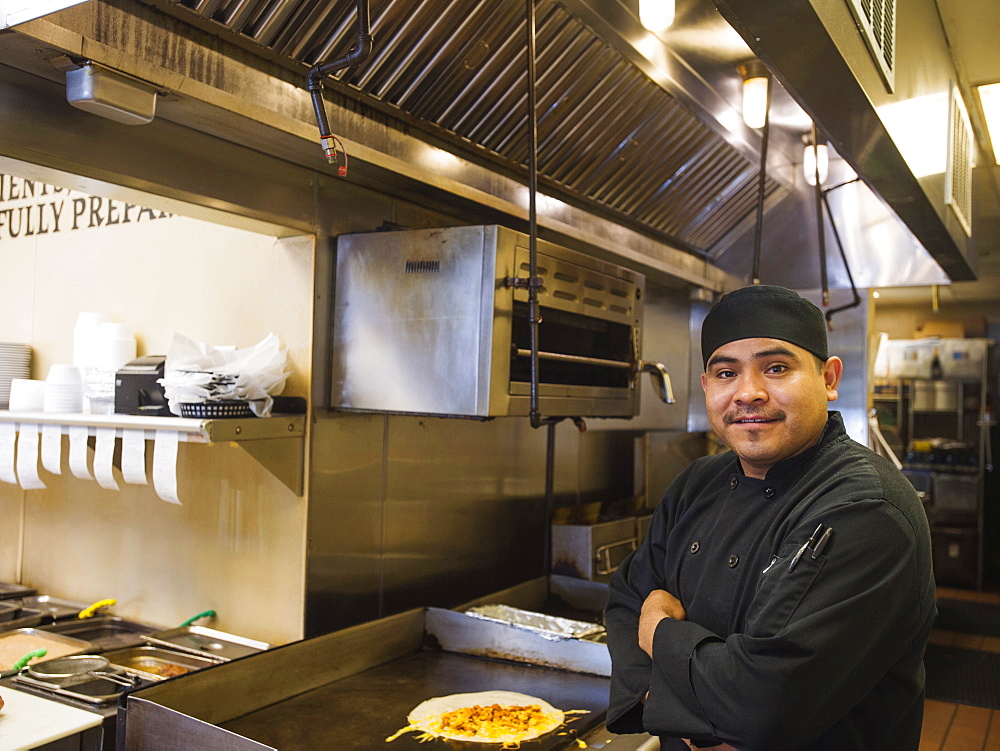
[[[103,313],[81,313],[73,330],[73,363],[83,370],[84,396],[93,414],[115,411],[115,374],[135,359],[135,337]]]

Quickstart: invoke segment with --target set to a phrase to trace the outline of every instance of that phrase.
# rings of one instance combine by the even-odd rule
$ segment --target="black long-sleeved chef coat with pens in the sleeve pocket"
[[[822,524],[828,544],[800,546]],[[639,649],[643,600],[687,620]],[[930,532],[909,481],[829,414],[816,446],[763,480],[732,452],[667,489],[646,539],[610,583],[608,729],[739,749],[916,749],[923,653],[936,614]],[[645,704],[642,697],[649,691]]]

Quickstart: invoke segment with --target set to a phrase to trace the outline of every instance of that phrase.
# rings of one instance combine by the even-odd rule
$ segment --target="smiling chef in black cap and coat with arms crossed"
[[[927,519],[827,411],[843,364],[822,312],[745,287],[709,311],[701,345],[730,451],[674,480],[610,583],[608,729],[664,749],[917,749]]]

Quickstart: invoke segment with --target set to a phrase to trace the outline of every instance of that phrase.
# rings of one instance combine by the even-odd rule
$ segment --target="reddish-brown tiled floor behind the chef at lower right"
[[[938,589],[940,597],[1000,603],[1000,595]],[[966,649],[1000,652],[1000,637],[934,631],[931,642]],[[920,751],[996,751],[1000,749],[1000,710],[928,699]]]

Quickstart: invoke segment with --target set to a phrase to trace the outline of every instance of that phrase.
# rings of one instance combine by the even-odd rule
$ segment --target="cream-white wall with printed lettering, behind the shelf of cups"
[[[248,346],[273,331],[288,347],[284,393],[309,394],[312,237],[140,213],[10,176],[0,186],[0,341],[32,345],[33,378],[71,361],[76,317],[95,310],[128,324],[140,355],[165,354],[175,332]],[[116,614],[164,626],[211,608],[205,625],[301,637],[304,498],[235,445],[181,444],[181,506],[117,470],[121,490],[105,490],[69,473],[66,440],[62,474],[40,470],[46,489],[0,483],[0,580],[117,598]]]

